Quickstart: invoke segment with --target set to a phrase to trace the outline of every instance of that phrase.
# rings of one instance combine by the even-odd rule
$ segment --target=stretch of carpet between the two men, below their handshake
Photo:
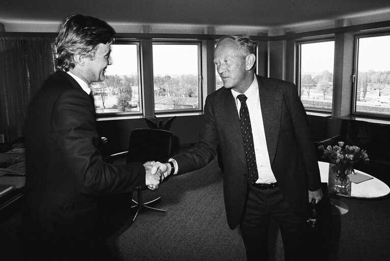
[[[121,260],[245,260],[239,231],[226,223],[222,174],[216,162],[200,171],[170,177],[144,200],[161,196],[155,207],[109,239]],[[124,230],[124,231],[123,231]]]

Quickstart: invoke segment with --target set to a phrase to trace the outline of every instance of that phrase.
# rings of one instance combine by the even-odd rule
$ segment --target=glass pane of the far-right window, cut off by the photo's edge
[[[356,112],[390,115],[390,36],[358,41]]]

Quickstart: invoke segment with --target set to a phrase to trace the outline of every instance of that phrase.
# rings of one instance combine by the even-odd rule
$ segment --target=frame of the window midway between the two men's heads
[[[188,109],[170,109],[170,110],[155,110],[155,103],[153,104],[153,112],[156,116],[176,115],[186,113],[201,113],[203,111],[203,81],[202,81],[202,42],[199,39],[152,39],[153,45],[197,45],[198,46],[198,102],[199,108]],[[153,50],[152,50],[153,52]],[[154,68],[153,68],[154,70]],[[153,88],[154,91],[154,71],[153,71]],[[154,97],[154,92],[153,92]],[[154,99],[153,99],[154,100]]]

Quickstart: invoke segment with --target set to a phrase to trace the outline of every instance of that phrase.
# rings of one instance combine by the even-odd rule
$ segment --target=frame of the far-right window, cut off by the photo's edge
[[[352,74],[352,107],[351,115],[353,116],[362,116],[368,118],[379,118],[379,119],[390,119],[390,115],[385,114],[376,114],[376,113],[366,113],[366,112],[357,112],[357,80],[358,80],[358,57],[359,57],[359,39],[361,38],[371,38],[378,36],[390,36],[390,30],[374,30],[374,32],[359,32],[354,34],[354,57],[353,57],[353,74]]]

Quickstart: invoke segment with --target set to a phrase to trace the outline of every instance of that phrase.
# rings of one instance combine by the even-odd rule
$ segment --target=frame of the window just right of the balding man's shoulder
[[[320,43],[320,42],[330,42],[330,41],[333,41],[334,43],[334,48],[335,48],[335,38],[334,38],[334,35],[327,35],[327,36],[322,36],[322,37],[315,37],[315,38],[302,38],[302,39],[297,39],[296,40],[296,54],[297,54],[297,58],[296,58],[296,66],[297,66],[297,69],[296,69],[296,79],[297,79],[297,89],[298,89],[298,95],[299,95],[299,99],[301,100],[301,65],[302,65],[302,49],[301,49],[301,46],[302,44],[308,44],[308,43]],[[333,88],[335,87],[334,86],[334,61],[335,61],[335,50],[333,52]],[[308,111],[308,112],[320,112],[320,113],[332,113],[333,111],[333,98],[332,98],[332,105],[331,105],[331,108],[330,109],[321,109],[321,108],[313,108],[313,107],[304,107],[305,111]]]

